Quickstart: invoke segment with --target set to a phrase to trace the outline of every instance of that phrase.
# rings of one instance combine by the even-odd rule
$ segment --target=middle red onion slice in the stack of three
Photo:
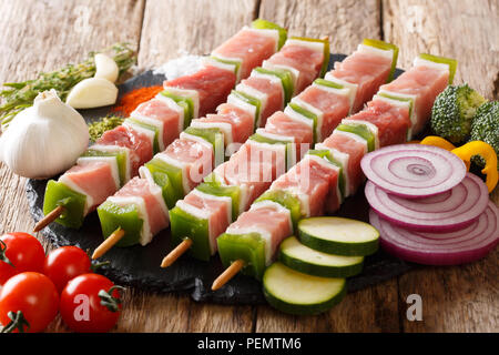
[[[365,193],[373,210],[383,219],[406,229],[428,232],[449,232],[469,225],[489,201],[487,185],[471,173],[450,191],[429,197],[403,199],[370,181]]]

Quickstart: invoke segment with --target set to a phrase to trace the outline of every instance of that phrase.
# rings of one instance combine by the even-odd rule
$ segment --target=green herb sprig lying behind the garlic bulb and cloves
[[[112,58],[120,69],[120,75],[126,72],[136,59],[129,43],[115,43],[100,52],[113,53]],[[4,103],[0,105],[2,129],[6,129],[20,111],[31,106],[34,98],[42,91],[55,89],[59,98],[65,101],[68,93],[77,83],[95,74],[95,53],[98,52],[90,52],[89,58],[79,64],[67,64],[52,72],[41,72],[33,80],[4,83],[3,87],[8,89],[0,91],[0,98],[4,99]]]

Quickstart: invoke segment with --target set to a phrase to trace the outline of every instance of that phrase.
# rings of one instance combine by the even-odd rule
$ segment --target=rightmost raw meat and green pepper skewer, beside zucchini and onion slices
[[[455,68],[454,60],[419,55],[409,71],[383,85],[366,109],[344,120],[324,143],[316,144],[316,150],[309,151],[304,160],[278,178],[251,210],[217,239],[223,264],[234,266],[214,282],[213,290],[222,287],[241,270],[259,278],[281,242],[294,233],[301,219],[335,212],[364,181],[363,155],[377,146],[403,143],[410,130],[424,126],[430,113],[426,108],[431,108],[447,87]],[[410,100],[398,97],[407,92],[414,93]],[[414,111],[418,112],[417,120],[411,119]],[[373,134],[367,136],[360,131],[355,132],[356,136],[345,134],[359,125],[375,128],[370,130]],[[255,227],[254,221],[263,216],[265,223]]]

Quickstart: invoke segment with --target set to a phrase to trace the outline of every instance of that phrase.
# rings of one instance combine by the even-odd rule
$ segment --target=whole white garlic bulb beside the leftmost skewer
[[[52,89],[12,120],[0,136],[0,160],[18,175],[45,179],[73,165],[88,145],[82,115]]]

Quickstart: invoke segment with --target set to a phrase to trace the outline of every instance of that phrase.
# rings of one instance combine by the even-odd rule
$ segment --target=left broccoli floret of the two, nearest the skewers
[[[483,102],[483,97],[466,83],[447,87],[435,100],[431,130],[455,144],[465,142],[469,138],[477,109]]]

